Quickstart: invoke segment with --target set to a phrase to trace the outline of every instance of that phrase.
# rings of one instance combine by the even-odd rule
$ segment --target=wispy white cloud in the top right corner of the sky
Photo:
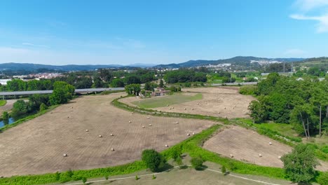
[[[327,8],[328,0],[298,0],[296,6],[303,11],[303,13],[293,14],[289,17],[295,20],[315,20],[317,21],[317,32],[328,32],[328,11],[321,15],[308,16],[309,11],[316,11],[320,8]]]

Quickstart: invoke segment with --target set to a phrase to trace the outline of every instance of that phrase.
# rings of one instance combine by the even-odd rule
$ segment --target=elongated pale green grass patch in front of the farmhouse
[[[201,100],[203,95],[198,93],[196,95],[183,95],[182,93],[175,95],[165,95],[165,97],[152,97],[149,99],[132,102],[132,104],[144,109],[151,109],[156,107],[165,107],[167,104],[182,104],[184,102],[191,102],[194,100]]]

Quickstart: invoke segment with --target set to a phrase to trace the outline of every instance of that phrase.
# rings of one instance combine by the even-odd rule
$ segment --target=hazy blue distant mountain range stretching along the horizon
[[[50,69],[56,71],[88,71],[100,68],[123,68],[123,67],[156,67],[156,68],[180,68],[180,67],[198,67],[208,64],[239,64],[248,65],[251,60],[268,60],[280,62],[300,62],[304,58],[264,58],[264,57],[232,57],[224,60],[189,60],[179,64],[142,64],[135,63],[130,65],[108,64],[108,65],[46,65],[46,64],[28,64],[28,63],[4,63],[0,64],[0,71],[36,71],[37,69]]]

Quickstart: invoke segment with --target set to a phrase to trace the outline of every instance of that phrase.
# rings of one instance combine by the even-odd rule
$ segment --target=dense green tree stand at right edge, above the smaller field
[[[328,81],[315,78],[268,77],[253,88],[258,101],[250,103],[255,123],[275,121],[290,123],[306,137],[328,135]]]

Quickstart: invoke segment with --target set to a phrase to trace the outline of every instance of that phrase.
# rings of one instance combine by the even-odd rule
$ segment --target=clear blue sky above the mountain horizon
[[[0,1],[0,63],[327,56],[328,0]]]

